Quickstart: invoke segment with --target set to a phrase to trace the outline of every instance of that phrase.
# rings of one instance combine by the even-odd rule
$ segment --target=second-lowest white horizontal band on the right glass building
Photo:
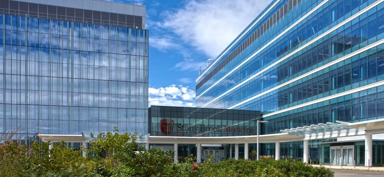
[[[240,105],[242,105],[242,104],[244,104],[244,103],[247,103],[247,102],[249,102],[249,101],[251,101],[251,100],[253,100],[253,99],[256,99],[256,98],[258,98],[258,97],[261,97],[262,95],[265,95],[266,93],[269,93],[269,92],[272,92],[273,90],[276,90],[276,89],[278,89],[278,88],[284,87],[285,85],[291,84],[292,82],[295,82],[295,81],[297,81],[297,80],[299,80],[299,79],[302,79],[302,78],[304,78],[304,77],[307,77],[308,75],[311,75],[311,74],[313,74],[313,73],[316,73],[316,72],[318,72],[318,71],[320,71],[320,70],[323,70],[323,69],[325,69],[325,68],[327,68],[327,67],[330,67],[330,66],[332,66],[332,65],[334,65],[334,64],[337,64],[338,62],[344,61],[345,59],[348,59],[349,57],[352,57],[352,56],[354,56],[354,55],[356,55],[356,54],[359,54],[359,53],[361,53],[361,52],[364,52],[364,51],[366,51],[366,50],[368,50],[368,49],[374,48],[374,47],[376,47],[376,46],[378,46],[378,45],[380,45],[380,44],[383,44],[383,43],[384,43],[384,39],[381,39],[380,41],[376,41],[375,43],[372,43],[372,44],[370,44],[370,45],[368,45],[368,46],[365,46],[364,48],[361,48],[361,49],[359,49],[359,50],[357,50],[357,51],[354,51],[354,52],[352,52],[352,53],[350,53],[350,54],[347,54],[347,55],[345,55],[345,56],[343,56],[343,57],[340,57],[339,59],[336,59],[336,60],[334,60],[334,61],[332,61],[332,62],[329,62],[329,63],[327,63],[327,64],[324,64],[324,65],[321,66],[321,67],[318,67],[318,68],[316,68],[316,69],[314,69],[314,70],[311,70],[310,72],[307,72],[307,73],[305,73],[305,74],[303,74],[303,75],[300,75],[299,77],[296,77],[295,79],[291,79],[291,80],[289,80],[289,81],[287,81],[287,82],[285,82],[285,83],[283,83],[283,84],[280,84],[280,85],[278,85],[278,86],[276,86],[276,87],[273,87],[273,88],[271,88],[271,89],[269,89],[269,90],[267,90],[267,91],[265,91],[265,92],[263,92],[263,93],[260,93],[260,94],[258,94],[258,95],[255,95],[255,96],[251,97],[251,98],[248,98],[247,100],[244,100],[244,101],[242,101],[242,102],[240,102],[240,103],[237,103],[236,105],[233,105],[232,107],[229,107],[228,109],[233,109],[233,108],[235,108],[235,107],[237,107],[237,106],[240,106]]]

